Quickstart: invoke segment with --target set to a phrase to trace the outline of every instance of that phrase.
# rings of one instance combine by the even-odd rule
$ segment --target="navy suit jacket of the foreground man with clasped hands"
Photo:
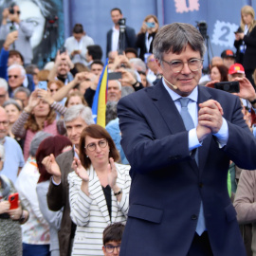
[[[213,255],[246,255],[227,175],[229,159],[255,169],[255,138],[237,97],[208,87],[198,90],[198,103],[220,102],[229,126],[224,148],[213,136],[204,139],[199,168],[189,151],[188,131],[161,81],[119,101],[121,146],[132,177],[120,256],[187,255],[201,201]]]

